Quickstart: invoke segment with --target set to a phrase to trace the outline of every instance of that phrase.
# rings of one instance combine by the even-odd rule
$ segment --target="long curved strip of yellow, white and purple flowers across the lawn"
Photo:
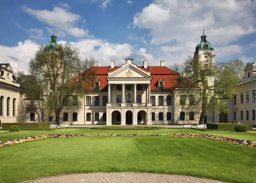
[[[203,137],[210,140],[218,140],[222,142],[232,143],[232,144],[241,145],[241,146],[247,146],[249,148],[256,149],[256,142],[252,142],[250,140],[221,137],[221,136],[212,135],[212,134],[152,134],[152,133],[151,134],[48,134],[48,135],[23,137],[23,138],[9,140],[9,141],[0,141],[0,147],[12,146],[18,143],[25,143],[25,142],[41,140],[45,138],[71,138],[76,136],[86,136],[86,137],[177,136],[182,138]]]

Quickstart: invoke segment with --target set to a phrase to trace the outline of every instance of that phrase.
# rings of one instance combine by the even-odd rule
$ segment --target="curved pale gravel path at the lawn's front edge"
[[[149,173],[88,173],[44,177],[22,183],[223,183],[217,180],[185,175]]]

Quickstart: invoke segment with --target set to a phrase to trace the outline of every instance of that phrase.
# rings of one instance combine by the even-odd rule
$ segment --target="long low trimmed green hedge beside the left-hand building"
[[[50,129],[50,123],[2,123],[2,129],[9,129],[10,126],[16,125],[20,129]]]

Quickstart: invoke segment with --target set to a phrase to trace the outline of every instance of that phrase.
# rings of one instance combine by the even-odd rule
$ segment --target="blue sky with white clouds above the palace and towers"
[[[38,46],[52,34],[73,42],[82,58],[100,66],[134,63],[166,66],[194,54],[203,27],[215,60],[256,60],[253,0],[8,0],[0,2],[0,63],[28,72]]]

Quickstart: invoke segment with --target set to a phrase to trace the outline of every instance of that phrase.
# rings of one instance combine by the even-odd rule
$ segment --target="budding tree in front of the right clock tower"
[[[213,62],[206,60],[206,64],[200,62],[196,57],[189,56],[182,64],[186,77],[178,78],[180,85],[183,84],[183,92],[195,91],[200,88],[197,95],[197,104],[201,105],[201,115],[199,123],[204,123],[207,109],[215,109],[216,105],[223,105],[220,99],[231,99],[240,81],[240,73],[236,71],[230,63],[241,64],[239,60],[233,59],[227,62]],[[188,82],[189,80],[189,82]],[[221,108],[222,109],[222,108]]]

